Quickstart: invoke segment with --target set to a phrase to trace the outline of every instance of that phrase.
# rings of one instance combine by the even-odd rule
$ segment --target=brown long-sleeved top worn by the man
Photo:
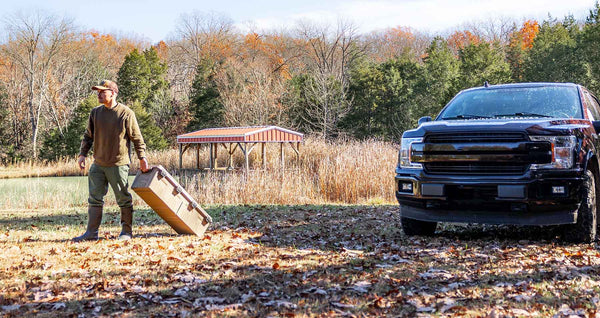
[[[139,159],[146,157],[146,144],[131,108],[117,103],[113,108],[100,105],[92,109],[79,155],[87,156],[94,146],[94,163],[103,167],[131,163],[129,148],[133,142]]]

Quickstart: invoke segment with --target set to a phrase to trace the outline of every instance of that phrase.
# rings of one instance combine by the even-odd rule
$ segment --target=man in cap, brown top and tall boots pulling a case
[[[133,237],[131,223],[133,221],[133,203],[128,191],[130,161],[130,143],[133,142],[135,152],[140,160],[140,169],[148,170],[146,160],[146,144],[135,117],[135,113],[127,106],[117,102],[119,87],[113,81],[104,80],[92,87],[98,92],[98,102],[102,105],[92,109],[86,132],[83,134],[81,150],[77,164],[85,169],[85,157],[94,147],[94,163],[88,176],[88,224],[87,230],[74,241],[98,239],[98,228],[102,222],[102,206],[108,185],[113,189],[117,204],[121,208],[120,240]]]

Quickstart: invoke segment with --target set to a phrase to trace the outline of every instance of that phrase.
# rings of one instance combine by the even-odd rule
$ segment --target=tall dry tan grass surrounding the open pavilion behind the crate
[[[250,155],[251,171],[196,171],[180,177],[188,192],[201,204],[381,204],[394,203],[394,167],[397,147],[394,144],[369,141],[325,141],[308,138],[300,146],[299,160],[289,145],[284,147],[285,170],[281,169],[279,144],[267,145],[267,169],[261,170],[260,146]],[[183,158],[184,169],[196,167],[196,151],[200,167],[208,167],[208,147],[190,148]],[[224,147],[219,149],[218,165],[228,165]],[[178,150],[148,153],[152,165],[162,165],[178,174]],[[243,167],[239,149],[233,156],[234,166]],[[88,163],[88,167],[89,167]],[[132,163],[132,172],[138,162]],[[29,176],[80,175],[75,158],[55,163],[28,162],[4,167],[4,171],[26,171]],[[36,171],[33,173],[33,171]],[[0,170],[0,173],[2,171]],[[80,191],[87,192],[83,187]],[[60,195],[60,194],[59,194]],[[72,194],[70,194],[72,196]],[[56,206],[54,198],[52,207]],[[65,198],[65,202],[70,202]],[[83,200],[82,204],[85,204]],[[41,203],[38,203],[38,205]],[[43,204],[42,204],[43,205]]]

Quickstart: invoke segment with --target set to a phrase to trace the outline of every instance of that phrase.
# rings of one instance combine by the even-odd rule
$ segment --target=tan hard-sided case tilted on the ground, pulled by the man
[[[131,189],[179,234],[201,236],[212,218],[162,166],[135,176]]]

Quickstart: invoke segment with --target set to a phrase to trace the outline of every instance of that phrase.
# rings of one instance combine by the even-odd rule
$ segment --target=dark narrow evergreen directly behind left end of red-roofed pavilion
[[[219,127],[223,125],[225,108],[221,103],[217,84],[214,80],[215,64],[203,60],[198,64],[196,77],[192,83],[190,98],[191,121],[188,130]]]

